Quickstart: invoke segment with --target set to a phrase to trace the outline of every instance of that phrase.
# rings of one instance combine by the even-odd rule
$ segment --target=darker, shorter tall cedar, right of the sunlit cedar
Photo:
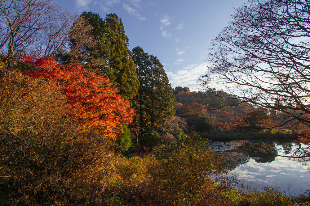
[[[175,114],[175,96],[157,57],[140,47],[132,51],[140,82],[135,105],[136,124],[141,129],[139,143],[155,146],[158,142],[155,131]]]

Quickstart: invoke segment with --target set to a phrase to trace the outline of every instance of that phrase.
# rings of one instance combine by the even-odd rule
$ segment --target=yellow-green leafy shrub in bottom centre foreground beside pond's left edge
[[[217,187],[217,174],[223,170],[205,143],[195,135],[179,144],[158,146],[153,155],[145,158],[152,175],[146,188],[152,204],[187,205],[197,200],[204,190]]]

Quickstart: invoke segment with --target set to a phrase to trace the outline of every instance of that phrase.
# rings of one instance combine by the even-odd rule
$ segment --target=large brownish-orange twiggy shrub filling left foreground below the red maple
[[[92,188],[113,162],[113,142],[77,129],[63,93],[49,82],[14,70],[0,75],[1,203],[79,204],[94,197]]]

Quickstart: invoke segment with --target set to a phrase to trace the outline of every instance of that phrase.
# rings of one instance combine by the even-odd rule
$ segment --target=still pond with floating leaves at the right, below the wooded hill
[[[266,141],[264,141],[266,142]],[[293,140],[268,141],[279,155],[290,156],[298,145]],[[224,157],[230,174],[247,189],[263,187],[278,188],[286,194],[300,194],[309,191],[310,167],[305,159],[286,158],[242,150],[233,142],[213,141],[208,144],[219,156]],[[239,155],[236,155],[239,154]],[[237,158],[236,158],[237,157]]]

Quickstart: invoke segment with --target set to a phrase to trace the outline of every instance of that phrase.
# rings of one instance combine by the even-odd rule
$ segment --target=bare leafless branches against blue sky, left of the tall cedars
[[[74,62],[82,47],[94,47],[85,19],[63,11],[53,0],[3,0],[0,25],[0,50],[12,63],[23,53],[35,57],[69,55]]]

